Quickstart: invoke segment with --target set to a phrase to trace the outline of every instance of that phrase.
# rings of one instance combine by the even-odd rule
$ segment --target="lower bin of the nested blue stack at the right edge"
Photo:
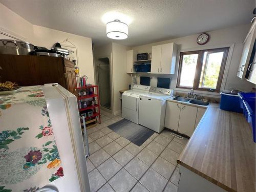
[[[244,116],[248,123],[250,123],[253,133],[253,141],[255,142],[255,98],[243,100]]]

